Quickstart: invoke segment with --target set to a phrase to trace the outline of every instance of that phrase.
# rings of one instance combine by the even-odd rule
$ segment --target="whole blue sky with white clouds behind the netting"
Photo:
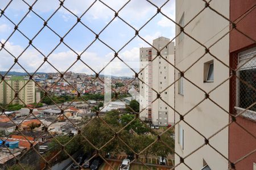
[[[0,8],[3,10],[9,1],[1,0]],[[28,4],[34,3],[33,0],[26,0]],[[91,0],[66,0],[64,6],[69,8],[77,16],[81,14],[92,4]],[[118,0],[111,1],[105,0],[104,3],[108,4],[114,10],[119,10],[127,1]],[[162,6],[166,0],[151,1],[157,6]],[[47,20],[49,16],[59,7],[59,1],[56,0],[39,0],[35,3],[33,10],[43,19]],[[28,11],[28,6],[21,0],[14,0],[11,5],[5,11],[5,15],[8,16],[15,24],[18,24],[20,19]],[[162,12],[170,18],[175,19],[175,1],[169,1],[163,8]],[[156,8],[147,1],[143,0],[131,0],[127,6],[119,12],[119,16],[127,23],[133,25],[134,28],[139,29],[148,19],[156,13]],[[94,32],[98,33],[106,24],[112,20],[114,12],[108,7],[103,5],[100,1],[94,3],[93,7],[81,18],[81,21],[86,24]],[[72,15],[65,8],[61,7],[59,11],[49,20],[48,26],[51,27],[61,37],[67,33],[67,31],[76,23],[76,17]],[[43,20],[36,16],[33,12],[30,12],[27,17],[19,25],[19,30],[24,33],[29,39],[32,39],[36,33],[43,27]],[[2,16],[0,18],[0,40],[5,42],[7,37],[10,36],[14,30],[14,25]],[[122,20],[115,18],[115,20],[106,28],[101,34],[100,39],[106,44],[110,45],[114,50],[119,50],[127,41],[134,36],[134,30],[128,25],[122,22]],[[139,34],[148,42],[152,42],[153,39],[159,36],[165,36],[173,38],[175,34],[175,24],[165,18],[162,14],[158,14],[151,20]],[[81,53],[93,40],[95,36],[89,29],[85,28],[81,23],[65,37],[64,42],[68,44],[77,53]],[[50,29],[44,28],[42,32],[34,39],[32,44],[36,46],[45,56],[51,52],[51,50],[59,43],[60,39]],[[6,42],[6,49],[8,49],[14,56],[19,56],[24,48],[28,45],[28,40],[18,31]],[[124,61],[129,62],[129,65],[135,70],[138,70],[139,61],[139,48],[142,46],[148,46],[139,37],[135,37],[129,45],[125,46],[119,52],[119,57]],[[102,44],[100,41],[94,42],[90,48],[82,54],[81,59],[90,65],[97,72],[100,71],[110,59],[114,56],[113,50]],[[0,51],[0,57],[3,62],[0,63],[0,70],[8,70],[13,65],[14,58],[11,57],[6,50]],[[77,55],[72,52],[67,46],[61,44],[53,53],[49,56],[48,61],[52,63],[60,71],[65,71],[76,61]],[[122,63],[118,63],[118,59],[115,59],[115,63],[109,67],[113,67],[114,75],[128,75],[133,73],[127,69]],[[20,56],[19,63],[27,71],[33,72],[43,62],[43,56],[37,52],[32,46],[30,46],[25,53]],[[14,66],[11,71],[22,71],[21,67]],[[45,63],[38,71],[43,72],[56,72],[53,67],[48,63]],[[77,73],[92,74],[92,71],[88,69],[82,62],[77,62],[69,71],[75,71]]]

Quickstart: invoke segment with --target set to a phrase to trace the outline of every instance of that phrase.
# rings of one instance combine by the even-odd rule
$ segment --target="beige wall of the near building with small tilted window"
[[[205,2],[201,0],[176,1],[176,22],[181,26],[186,25],[204,6]],[[229,18],[229,0],[214,0],[210,2],[210,6],[216,8],[226,18]],[[184,31],[209,47],[224,36],[225,33],[229,32],[229,22],[214,11],[206,8],[184,28]],[[179,33],[180,28],[176,26],[176,35]],[[196,62],[205,53],[203,46],[184,33],[181,33],[175,42],[175,66],[181,71],[188,69],[192,63]],[[217,44],[213,45],[210,48],[210,52],[226,65],[229,65],[229,35],[224,36]],[[182,75],[177,72],[175,79]],[[195,65],[185,71],[184,77],[191,80],[205,92],[209,92],[229,78],[229,68],[209,54],[205,54]],[[205,93],[191,82],[181,78],[176,83],[175,109],[182,115],[205,99]],[[229,81],[216,88],[210,93],[209,97],[226,111],[229,111]],[[175,117],[176,122],[178,122],[180,120],[179,114],[175,113]],[[184,116],[184,121],[198,130],[204,137],[209,138],[229,123],[229,114],[209,99],[206,99]],[[175,151],[184,158],[196,150],[192,155],[184,159],[184,163],[192,169],[228,169],[228,160],[214,151],[209,145],[204,145],[204,137],[184,121],[175,126]],[[228,135],[227,127],[209,140],[210,145],[220,151],[226,158],[228,158]],[[197,150],[202,145],[204,146]],[[175,155],[176,165],[180,163],[179,156]],[[175,169],[184,170],[189,168],[181,163]]]

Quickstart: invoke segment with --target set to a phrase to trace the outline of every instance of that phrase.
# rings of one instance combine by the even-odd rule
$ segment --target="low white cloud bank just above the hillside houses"
[[[5,40],[2,40],[5,42]],[[10,53],[14,54],[14,56],[18,56],[22,51],[22,46],[14,45],[10,42],[6,42],[5,48],[10,51]],[[80,52],[77,52],[80,53]],[[9,68],[14,63],[14,58],[10,56],[5,50],[1,50],[0,52],[1,59],[5,62],[0,62],[0,71],[9,70]],[[85,52],[82,54],[81,59],[92,67],[96,72],[100,71],[114,56],[113,53],[109,53],[104,57],[98,56],[97,53]],[[125,50],[120,53],[119,56],[123,59],[123,61],[127,62],[134,69],[138,69],[138,58],[139,58],[139,48],[133,48],[130,50]],[[52,53],[48,57],[48,61],[56,67],[59,71],[66,71],[69,66],[72,65],[73,62],[76,61],[76,54],[71,50],[67,50],[65,52]],[[26,52],[20,56],[18,62],[20,65],[24,67],[28,72],[34,72],[38,67],[43,63],[44,57],[38,53],[34,48],[28,48]],[[115,59],[113,63],[111,63],[108,67],[112,68],[112,74],[117,76],[131,76],[134,75],[127,66],[125,66],[119,59]],[[15,65],[11,71],[20,71],[24,72],[24,70]],[[69,71],[74,71],[75,73],[86,73],[93,74],[93,72],[84,65],[81,61],[77,62],[75,65],[71,67]],[[42,67],[38,70],[38,72],[57,72],[52,66],[48,63],[44,63]],[[103,72],[104,73],[104,72]],[[102,74],[103,74],[102,73]]]

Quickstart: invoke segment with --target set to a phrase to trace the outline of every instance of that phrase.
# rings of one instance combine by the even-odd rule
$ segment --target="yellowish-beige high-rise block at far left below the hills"
[[[6,83],[8,83],[9,85]],[[23,105],[24,103],[25,104],[35,103],[35,101],[36,101],[35,100],[35,98],[36,98],[35,82],[32,82],[31,80],[6,80],[6,83],[5,82],[0,83],[0,103],[1,104],[9,104],[10,103],[10,104],[22,104]],[[25,86],[25,84],[26,84],[26,86]],[[22,101],[20,101],[17,97],[15,97],[14,90],[16,92],[18,92],[20,90],[18,93],[18,97],[24,103],[22,103]]]

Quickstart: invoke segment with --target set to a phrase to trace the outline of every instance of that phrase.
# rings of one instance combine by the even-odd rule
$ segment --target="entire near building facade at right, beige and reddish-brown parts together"
[[[182,157],[191,169],[253,170],[256,11],[251,9],[255,1],[216,0],[209,5],[236,23],[246,36],[210,8],[193,19],[205,7],[203,1],[176,1],[176,22],[181,27],[189,22],[184,32],[207,48],[210,46],[212,55],[205,54],[203,46],[176,27],[176,35],[180,35],[176,39],[175,66],[185,71],[175,74],[176,122],[179,114],[185,116],[175,128],[175,164]],[[229,67],[239,69],[232,71]],[[248,110],[242,113],[245,109]],[[230,116],[240,113],[238,117]],[[205,138],[210,138],[210,145],[205,145]],[[175,169],[189,169],[185,164]]]

